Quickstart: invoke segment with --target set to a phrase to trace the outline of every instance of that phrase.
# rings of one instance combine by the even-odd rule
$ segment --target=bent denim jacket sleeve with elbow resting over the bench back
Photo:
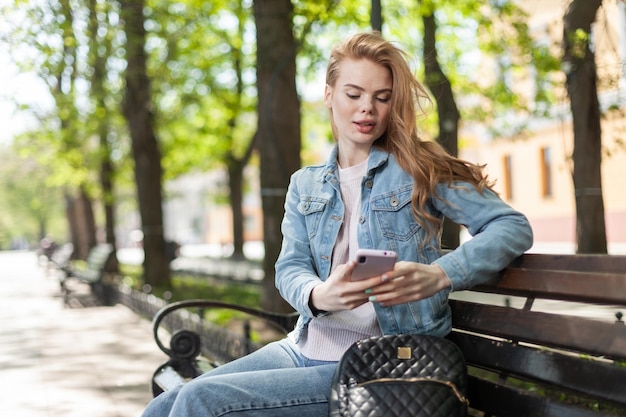
[[[441,199],[433,205],[450,220],[465,226],[472,236],[457,249],[437,259],[452,282],[452,291],[493,281],[533,243],[526,216],[493,191],[479,192],[468,183],[439,185]]]

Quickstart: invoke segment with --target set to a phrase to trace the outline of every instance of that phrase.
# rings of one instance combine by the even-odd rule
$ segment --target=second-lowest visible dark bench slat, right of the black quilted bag
[[[450,339],[474,366],[554,384],[626,406],[626,368],[504,341],[454,333]],[[593,375],[593,378],[589,378]]]

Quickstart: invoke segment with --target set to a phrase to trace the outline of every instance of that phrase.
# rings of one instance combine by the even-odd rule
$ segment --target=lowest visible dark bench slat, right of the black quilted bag
[[[503,417],[599,417],[605,413],[566,405],[474,376],[469,377],[470,408]]]

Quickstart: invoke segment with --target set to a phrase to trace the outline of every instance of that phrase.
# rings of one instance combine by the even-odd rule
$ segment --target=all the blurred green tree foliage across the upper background
[[[153,113],[165,178],[226,169],[246,156],[256,130],[256,44],[252,0],[150,0],[146,4]],[[94,9],[90,9],[90,5]],[[320,105],[330,48],[348,34],[369,30],[369,2],[294,0],[298,89],[303,97],[303,160],[317,162],[332,141]],[[124,90],[124,35],[118,4],[97,0],[16,1],[2,41],[24,71],[36,71],[55,106],[28,107],[40,120],[18,139],[18,152],[50,168],[46,184],[87,187],[99,195],[98,169],[115,165],[117,188],[133,210],[132,161],[120,114]],[[531,36],[519,2],[398,0],[383,5],[383,33],[423,65],[421,17],[435,15],[437,51],[466,123],[493,135],[517,133],[554,103],[559,60]],[[585,34],[577,34],[585,41]],[[97,71],[103,83],[94,85]],[[522,84],[520,80],[530,79]],[[420,119],[437,136],[436,112]],[[107,147],[98,140],[105,130]],[[121,208],[120,208],[121,207]],[[127,208],[128,207],[128,208]]]

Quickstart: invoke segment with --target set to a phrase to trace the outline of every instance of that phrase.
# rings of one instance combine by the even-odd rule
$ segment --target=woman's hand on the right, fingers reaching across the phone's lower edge
[[[383,274],[371,288],[369,301],[383,306],[418,301],[452,285],[439,265],[398,262],[393,272]]]

